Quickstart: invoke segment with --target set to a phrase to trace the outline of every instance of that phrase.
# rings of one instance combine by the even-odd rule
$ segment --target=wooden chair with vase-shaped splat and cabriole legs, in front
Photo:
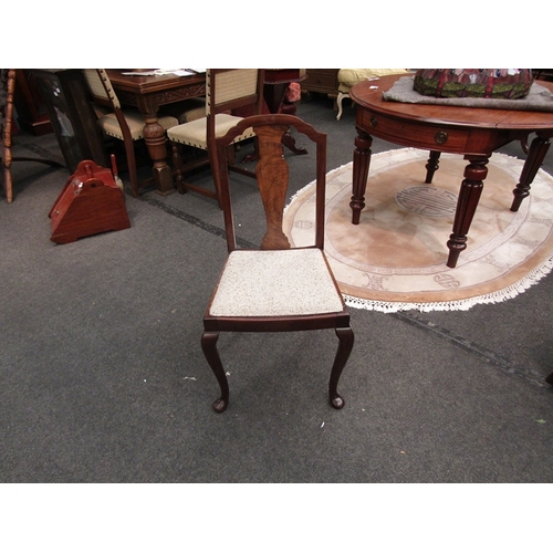
[[[294,127],[316,145],[316,232],[312,247],[291,248],[282,230],[289,185],[289,166],[282,136]],[[237,249],[229,190],[226,148],[253,128],[259,152],[255,167],[267,233],[259,250]],[[326,135],[294,115],[246,117],[217,145],[217,180],[220,186],[229,255],[204,317],[201,346],[217,377],[221,397],[213,404],[222,413],[229,404],[227,376],[217,351],[220,332],[290,332],[334,328],[338,348],[330,377],[330,401],[341,409],[337,384],[353,347],[349,314],[323,252]],[[307,159],[307,158],[304,158]]]

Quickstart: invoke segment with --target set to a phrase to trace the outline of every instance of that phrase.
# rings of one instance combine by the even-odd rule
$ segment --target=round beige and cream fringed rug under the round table
[[[462,156],[442,154],[425,185],[428,152],[403,148],[373,155],[365,208],[352,225],[353,164],[326,176],[325,252],[349,306],[378,311],[466,310],[526,290],[553,267],[553,179],[539,170],[518,212],[512,190],[523,161],[493,154],[480,202],[457,267],[446,265]],[[286,208],[293,246],[314,239],[314,185]]]

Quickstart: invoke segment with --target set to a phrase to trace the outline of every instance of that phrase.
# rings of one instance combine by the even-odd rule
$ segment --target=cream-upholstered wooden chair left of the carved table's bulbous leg
[[[92,98],[96,104],[96,115],[102,131],[112,138],[123,140],[127,158],[128,175],[133,196],[139,196],[139,189],[152,182],[152,178],[138,180],[135,142],[144,138],[146,121],[143,114],[134,109],[122,109],[107,73],[103,69],[84,70]],[[165,131],[178,125],[178,119],[170,115],[160,115],[159,124]]]

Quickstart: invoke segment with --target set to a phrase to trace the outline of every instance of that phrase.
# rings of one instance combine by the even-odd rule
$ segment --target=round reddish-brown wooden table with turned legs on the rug
[[[428,149],[426,184],[430,184],[439,166],[440,153],[460,154],[469,161],[461,182],[452,233],[447,241],[447,265],[455,268],[467,248],[467,234],[488,174],[487,164],[498,148],[513,140],[528,149],[520,181],[513,190],[511,211],[517,211],[529,196],[530,186],[541,167],[553,136],[553,112],[457,107],[439,104],[390,102],[383,92],[405,75],[364,81],[349,91],[357,104],[355,150],[353,156],[353,195],[349,202],[353,225],[359,223],[365,207],[365,190],[371,165],[373,137],[403,146]],[[553,83],[538,82],[553,92]]]

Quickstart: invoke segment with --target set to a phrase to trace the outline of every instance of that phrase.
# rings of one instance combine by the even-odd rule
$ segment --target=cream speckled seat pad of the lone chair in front
[[[237,250],[227,260],[209,314],[311,315],[343,309],[321,250]]]

